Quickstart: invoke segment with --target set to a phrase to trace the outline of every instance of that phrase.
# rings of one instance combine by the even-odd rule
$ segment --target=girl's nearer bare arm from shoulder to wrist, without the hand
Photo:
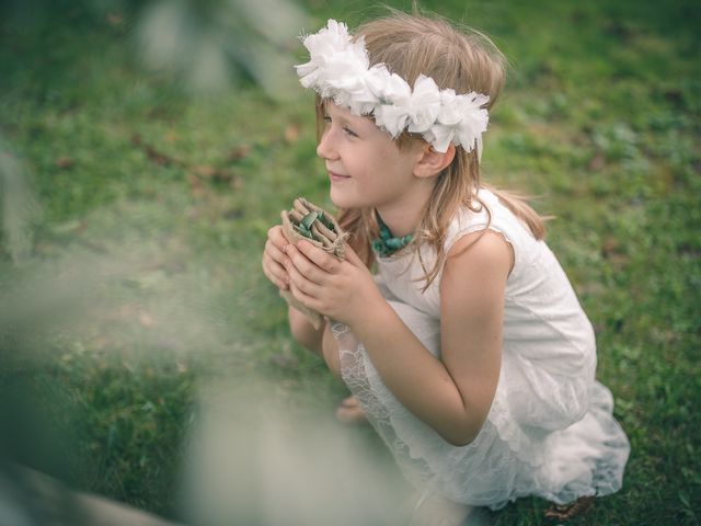
[[[506,278],[513,252],[486,232],[461,239],[441,279],[441,358],[435,358],[387,304],[352,325],[392,393],[447,442],[478,435],[499,376]]]

